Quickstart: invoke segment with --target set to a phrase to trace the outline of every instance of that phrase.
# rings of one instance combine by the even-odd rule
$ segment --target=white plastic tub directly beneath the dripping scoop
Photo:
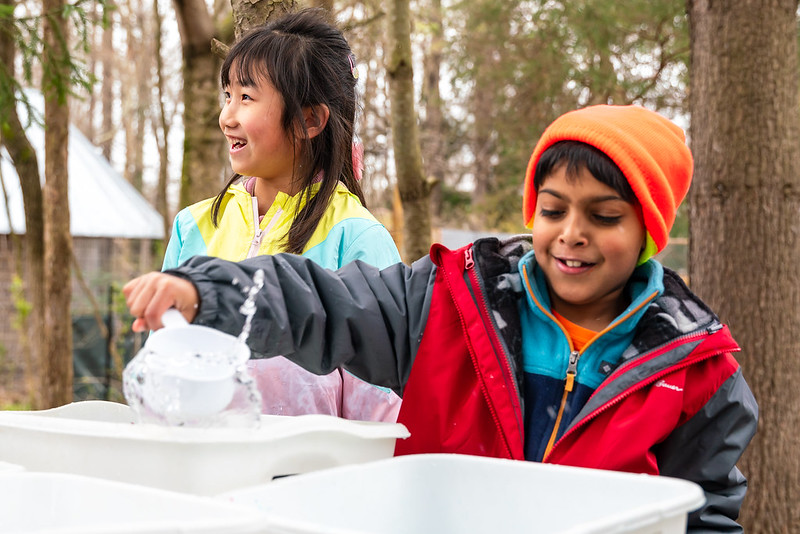
[[[259,428],[133,424],[126,405],[84,401],[0,412],[0,461],[198,495],[389,458],[403,425],[327,415],[263,416]]]

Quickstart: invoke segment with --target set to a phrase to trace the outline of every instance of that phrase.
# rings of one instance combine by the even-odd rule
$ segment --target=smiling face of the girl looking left
[[[231,69],[230,80],[224,88],[219,126],[228,140],[233,171],[269,180],[278,189],[288,191],[295,147],[283,129],[283,99],[263,77],[253,85],[241,85]]]

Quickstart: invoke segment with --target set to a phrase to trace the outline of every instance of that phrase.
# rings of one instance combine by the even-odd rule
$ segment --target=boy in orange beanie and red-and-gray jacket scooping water
[[[692,531],[740,530],[736,468],[757,407],[728,329],[651,256],[688,190],[683,132],[637,106],[567,113],[544,132],[523,198],[530,238],[434,245],[410,267],[339,271],[279,255],[196,258],[124,289],[134,329],[174,306],[238,333],[257,269],[255,357],[344,366],[403,397],[397,454],[454,452],[661,474],[706,493]],[[199,309],[195,305],[199,304]]]

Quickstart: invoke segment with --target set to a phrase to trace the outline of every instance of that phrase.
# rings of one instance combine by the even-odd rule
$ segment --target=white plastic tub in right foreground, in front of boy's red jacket
[[[220,499],[263,512],[273,534],[678,534],[705,497],[696,484],[666,477],[422,454]]]

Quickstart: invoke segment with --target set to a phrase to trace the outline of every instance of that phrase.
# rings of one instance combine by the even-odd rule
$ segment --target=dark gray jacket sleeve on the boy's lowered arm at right
[[[757,420],[758,406],[739,369],[659,447],[662,475],[690,480],[705,492],[706,503],[689,514],[688,532],[742,532],[736,519],[747,479],[736,463],[756,432]]]

